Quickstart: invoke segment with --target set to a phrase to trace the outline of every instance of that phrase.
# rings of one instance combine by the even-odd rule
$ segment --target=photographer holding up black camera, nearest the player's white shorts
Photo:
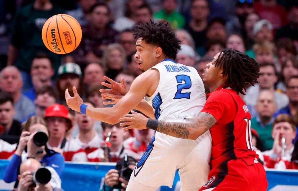
[[[127,158],[125,159],[125,157]],[[120,191],[124,191],[127,187],[131,172],[133,171],[136,163],[136,159],[125,155],[124,158],[117,162],[117,170],[111,169],[106,173],[105,183],[103,184],[102,189],[100,191],[112,191],[113,189],[117,188]],[[130,168],[132,170],[130,171],[130,174],[124,172],[127,168]]]

